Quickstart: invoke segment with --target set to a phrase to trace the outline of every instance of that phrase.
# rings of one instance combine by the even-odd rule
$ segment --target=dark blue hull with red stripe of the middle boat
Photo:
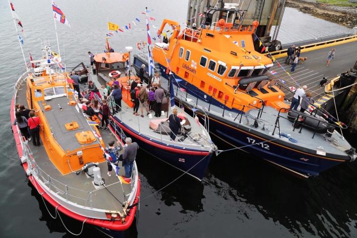
[[[150,140],[146,136],[137,133],[121,123],[117,117],[112,117],[112,126],[115,123],[117,131],[121,128],[126,136],[132,137],[147,153],[153,155],[157,159],[179,169],[196,179],[202,180],[210,163],[212,153],[208,151],[189,150],[184,148],[167,146],[164,143]],[[113,122],[114,121],[114,122]]]

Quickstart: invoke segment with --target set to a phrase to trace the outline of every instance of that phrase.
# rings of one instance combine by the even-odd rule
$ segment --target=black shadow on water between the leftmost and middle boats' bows
[[[143,150],[138,153],[137,164],[140,168],[140,173],[146,179],[146,183],[153,188],[151,189],[152,193],[172,182],[183,173]],[[182,213],[186,211],[199,213],[203,211],[202,199],[205,198],[203,190],[204,185],[202,182],[189,175],[184,175],[165,187],[159,194],[160,199],[166,206],[172,206],[175,202],[178,202],[182,206]],[[142,199],[144,198],[142,197]]]

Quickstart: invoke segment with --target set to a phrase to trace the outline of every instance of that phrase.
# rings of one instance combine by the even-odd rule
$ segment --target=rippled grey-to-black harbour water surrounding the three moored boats
[[[40,38],[51,39],[56,50],[51,2],[14,0],[27,38],[24,50],[40,56]],[[67,14],[71,28],[58,26],[66,61],[87,61],[86,52],[104,49],[107,16],[120,25],[140,16],[145,4],[159,26],[164,17],[184,22],[187,1],[87,0],[56,2]],[[108,10],[111,9],[111,10]],[[0,0],[0,237],[73,237],[61,221],[52,219],[41,196],[20,166],[10,132],[12,84],[23,68],[22,56],[6,0]],[[143,19],[143,17],[141,17]],[[153,33],[152,33],[153,34]],[[123,50],[145,39],[143,24],[111,39]],[[291,39],[294,41],[295,39]],[[57,51],[57,50],[56,50]],[[64,55],[64,51],[62,55]],[[26,54],[27,58],[27,54]],[[20,70],[16,70],[21,68]],[[349,137],[354,141],[354,136]],[[223,145],[217,143],[220,148]],[[181,175],[143,151],[138,159],[145,198]],[[318,178],[300,179],[259,158],[234,152],[214,157],[202,182],[184,176],[144,200],[137,226],[127,237],[357,237],[357,163],[343,164]],[[49,207],[52,214],[54,208]],[[73,233],[81,224],[64,219]],[[84,226],[80,237],[101,237]]]

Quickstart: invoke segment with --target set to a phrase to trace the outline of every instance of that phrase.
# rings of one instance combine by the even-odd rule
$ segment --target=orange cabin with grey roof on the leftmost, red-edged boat
[[[27,77],[28,105],[41,119],[40,135],[47,155],[63,174],[89,162],[103,162],[99,131],[87,123],[74,99],[67,75],[46,73]],[[95,135],[96,133],[96,135]]]

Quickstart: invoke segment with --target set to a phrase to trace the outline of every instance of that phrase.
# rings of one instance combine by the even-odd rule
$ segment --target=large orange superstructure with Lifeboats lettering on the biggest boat
[[[152,54],[167,74],[172,71],[228,108],[286,107],[284,93],[266,76],[273,61],[254,49],[257,21],[242,26],[221,19],[212,26],[181,32],[178,22],[165,19],[158,35],[166,25],[173,29],[171,38],[167,45],[156,43]]]

